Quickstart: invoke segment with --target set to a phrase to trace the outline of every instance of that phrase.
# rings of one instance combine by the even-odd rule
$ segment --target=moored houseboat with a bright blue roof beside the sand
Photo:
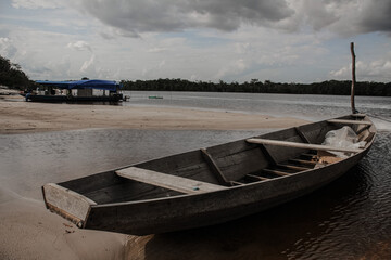
[[[31,93],[23,94],[26,101],[50,103],[119,102],[119,84],[111,80],[47,81],[37,80],[40,86]],[[94,94],[94,92],[100,94]]]

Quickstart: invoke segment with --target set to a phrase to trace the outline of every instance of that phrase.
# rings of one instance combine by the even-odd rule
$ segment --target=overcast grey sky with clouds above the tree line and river
[[[31,79],[391,81],[391,0],[0,0]]]

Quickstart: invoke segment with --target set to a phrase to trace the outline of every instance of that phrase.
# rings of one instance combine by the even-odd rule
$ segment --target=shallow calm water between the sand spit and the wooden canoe
[[[0,181],[22,196],[40,199],[40,186],[48,182],[58,183],[258,133],[262,131],[100,129],[0,135]]]

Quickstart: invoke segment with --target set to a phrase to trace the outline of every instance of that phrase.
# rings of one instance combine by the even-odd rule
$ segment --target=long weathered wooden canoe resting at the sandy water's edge
[[[321,145],[328,131],[343,126],[365,146]],[[330,183],[358,162],[375,135],[366,115],[349,115],[49,183],[43,199],[48,209],[83,229],[147,235],[213,225]]]

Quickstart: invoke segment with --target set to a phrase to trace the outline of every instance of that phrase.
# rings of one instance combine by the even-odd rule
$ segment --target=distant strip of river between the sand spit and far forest
[[[130,96],[124,106],[156,105],[223,109],[276,116],[295,116],[303,119],[319,120],[348,114],[349,95],[299,95],[266,93],[214,93],[175,91],[125,91]],[[163,96],[150,100],[149,95]],[[356,96],[356,108],[362,113],[382,118],[391,115],[390,96]],[[389,123],[391,126],[391,123]],[[391,129],[391,127],[389,127]]]

